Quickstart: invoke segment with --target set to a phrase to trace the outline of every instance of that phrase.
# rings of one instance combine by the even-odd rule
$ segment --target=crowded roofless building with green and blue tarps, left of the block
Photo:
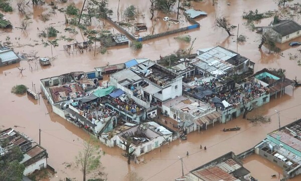
[[[92,134],[112,130],[118,120],[145,119],[145,109],[129,101],[123,91],[108,82],[100,87],[96,73],[71,72],[41,79],[41,90],[53,112]]]

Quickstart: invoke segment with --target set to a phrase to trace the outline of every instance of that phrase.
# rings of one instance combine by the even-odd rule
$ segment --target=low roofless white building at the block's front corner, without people
[[[138,157],[171,142],[172,134],[171,131],[156,122],[138,125],[125,123],[112,131],[102,133],[99,139],[106,146],[118,146],[123,150],[125,150],[125,145],[122,143],[132,140],[129,152],[135,150],[134,155]]]

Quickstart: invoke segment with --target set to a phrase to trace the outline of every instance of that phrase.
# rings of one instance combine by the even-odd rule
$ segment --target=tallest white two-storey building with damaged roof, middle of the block
[[[111,74],[110,84],[146,109],[182,95],[182,75],[150,60]]]

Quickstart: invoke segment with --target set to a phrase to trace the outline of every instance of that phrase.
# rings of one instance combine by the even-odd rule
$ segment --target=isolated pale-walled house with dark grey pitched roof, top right
[[[287,42],[301,36],[301,26],[293,20],[281,20],[279,23],[262,29],[263,34],[269,35],[279,43]]]

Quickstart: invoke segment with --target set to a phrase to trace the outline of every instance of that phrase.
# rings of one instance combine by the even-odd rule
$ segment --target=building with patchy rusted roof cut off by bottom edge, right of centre
[[[250,171],[243,167],[233,152],[222,155],[177,178],[176,181],[245,181],[256,180]]]

